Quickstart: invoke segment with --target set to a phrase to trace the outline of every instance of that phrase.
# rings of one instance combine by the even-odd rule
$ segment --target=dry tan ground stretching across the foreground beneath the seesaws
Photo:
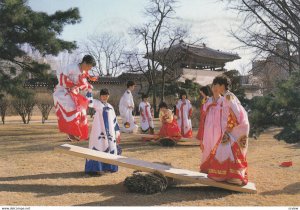
[[[257,194],[180,184],[142,195],[123,186],[132,169],[120,167],[118,173],[90,177],[84,174],[85,159],[54,152],[55,146],[66,143],[66,136],[58,132],[55,121],[41,124],[39,118],[33,117],[29,125],[13,117],[0,124],[0,206],[300,206],[300,144],[275,140],[279,129],[250,139],[249,180],[256,184]],[[197,142],[167,148],[128,134],[123,137],[124,156],[199,168]],[[280,167],[283,161],[293,166]]]

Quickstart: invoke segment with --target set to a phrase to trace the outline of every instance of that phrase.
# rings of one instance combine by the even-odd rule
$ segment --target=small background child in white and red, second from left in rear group
[[[148,99],[149,97],[143,94],[142,102],[139,105],[141,130],[143,133],[149,132],[149,134],[154,134],[154,124],[153,117],[151,114],[151,105],[148,102]]]

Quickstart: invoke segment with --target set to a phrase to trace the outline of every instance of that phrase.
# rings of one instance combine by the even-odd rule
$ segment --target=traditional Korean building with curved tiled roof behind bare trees
[[[153,56],[146,58],[154,59],[163,64],[166,69],[173,72],[172,76],[178,81],[193,80],[200,85],[211,84],[213,78],[226,71],[225,64],[240,56],[235,53],[222,52],[207,47],[205,44],[194,45],[180,41],[170,49],[163,49]]]

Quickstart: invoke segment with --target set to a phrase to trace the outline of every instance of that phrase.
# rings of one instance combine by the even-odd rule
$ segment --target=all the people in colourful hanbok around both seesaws
[[[89,148],[114,155],[121,154],[120,129],[126,133],[136,133],[138,126],[133,117],[134,101],[133,81],[128,81],[127,90],[119,103],[122,126],[119,127],[114,108],[108,103],[109,91],[101,89],[99,100],[92,98],[92,85],[87,82],[88,71],[95,65],[89,55],[78,65],[66,68],[59,75],[59,84],[54,92],[56,114],[60,131],[67,133],[70,140],[88,138],[86,110],[96,110],[89,137]],[[247,113],[237,97],[229,89],[230,81],[225,76],[217,76],[212,83],[212,96],[208,86],[200,89],[200,123],[197,139],[202,151],[200,171],[216,181],[244,185],[247,176],[247,146],[249,122]],[[86,97],[79,90],[87,90]],[[192,138],[192,105],[185,91],[180,92],[175,110],[168,108],[165,102],[159,104],[160,137],[175,141],[182,137]],[[142,132],[154,134],[153,110],[148,96],[142,95],[139,104],[140,127]],[[116,172],[118,166],[94,160],[86,160],[85,172],[102,174]]]

